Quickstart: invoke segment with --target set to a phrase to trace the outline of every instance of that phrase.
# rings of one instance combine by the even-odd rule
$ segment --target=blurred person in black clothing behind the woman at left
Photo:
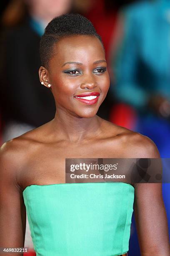
[[[2,141],[51,120],[55,102],[40,84],[39,43],[47,23],[70,11],[72,0],[13,0],[2,15],[0,112]],[[25,79],[27,77],[27,79]]]

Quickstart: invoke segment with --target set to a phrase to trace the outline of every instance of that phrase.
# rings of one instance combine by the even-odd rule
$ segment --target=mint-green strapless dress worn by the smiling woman
[[[23,198],[37,256],[126,253],[134,191],[124,182],[26,187]]]

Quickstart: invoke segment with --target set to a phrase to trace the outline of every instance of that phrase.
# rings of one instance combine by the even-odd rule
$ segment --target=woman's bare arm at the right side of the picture
[[[144,138],[143,158],[159,158],[155,144]],[[135,221],[141,256],[169,256],[168,221],[162,196],[162,183],[135,186]]]

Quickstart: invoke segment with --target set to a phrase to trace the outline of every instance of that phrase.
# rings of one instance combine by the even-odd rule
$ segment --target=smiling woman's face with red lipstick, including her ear
[[[49,70],[40,67],[40,80],[47,79],[51,84],[57,110],[93,117],[110,86],[100,40],[95,36],[69,36],[55,44],[53,51]]]

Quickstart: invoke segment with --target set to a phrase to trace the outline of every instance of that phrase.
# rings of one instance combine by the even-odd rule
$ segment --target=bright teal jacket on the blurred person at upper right
[[[170,100],[170,0],[142,1],[123,10],[125,35],[112,63],[117,99],[142,112],[150,95]]]

